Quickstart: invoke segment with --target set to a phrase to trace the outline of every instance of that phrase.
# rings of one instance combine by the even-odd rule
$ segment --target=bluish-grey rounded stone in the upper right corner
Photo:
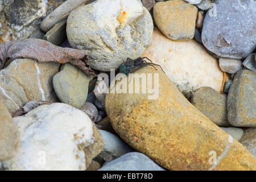
[[[212,11],[208,10],[204,18],[204,46],[218,56],[232,59],[242,59],[253,52],[256,1],[216,0]]]

